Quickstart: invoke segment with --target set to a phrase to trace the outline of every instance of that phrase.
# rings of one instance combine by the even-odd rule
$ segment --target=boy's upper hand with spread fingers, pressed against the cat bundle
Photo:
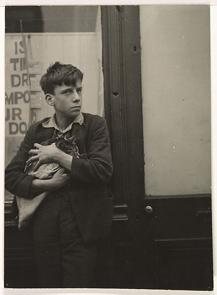
[[[44,163],[57,162],[57,159],[62,152],[62,150],[56,147],[55,143],[50,146],[34,144],[34,147],[37,149],[31,149],[29,151],[29,154],[34,154],[34,156],[27,160],[28,165],[37,161],[34,171],[36,171],[38,167]]]

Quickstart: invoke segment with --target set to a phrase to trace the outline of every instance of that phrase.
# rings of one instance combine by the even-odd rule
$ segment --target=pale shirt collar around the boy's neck
[[[55,136],[61,137],[68,137],[68,131],[71,130],[72,125],[74,123],[79,123],[80,125],[82,125],[84,122],[84,116],[82,115],[82,113],[80,113],[77,117],[74,118],[73,122],[71,122],[70,125],[68,125],[68,127],[66,127],[63,131],[60,131],[59,127],[57,126],[56,123],[56,114],[54,114],[51,118],[49,118],[47,121],[45,121],[44,123],[42,123],[42,126],[45,128],[55,128]],[[67,133],[68,132],[68,133]]]

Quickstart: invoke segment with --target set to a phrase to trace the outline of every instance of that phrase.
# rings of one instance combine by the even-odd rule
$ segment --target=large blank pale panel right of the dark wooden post
[[[146,195],[211,192],[210,16],[140,6]]]

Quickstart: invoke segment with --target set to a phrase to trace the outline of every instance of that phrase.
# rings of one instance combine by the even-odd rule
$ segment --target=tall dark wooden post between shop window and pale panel
[[[145,195],[139,6],[102,6],[101,15],[114,219],[133,220],[138,218],[137,207]]]

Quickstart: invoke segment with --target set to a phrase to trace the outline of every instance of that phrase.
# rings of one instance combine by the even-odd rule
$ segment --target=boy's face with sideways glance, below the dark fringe
[[[66,117],[74,119],[81,111],[82,105],[82,86],[81,81],[76,82],[77,86],[56,86],[54,95],[52,95],[52,102],[57,117]]]

